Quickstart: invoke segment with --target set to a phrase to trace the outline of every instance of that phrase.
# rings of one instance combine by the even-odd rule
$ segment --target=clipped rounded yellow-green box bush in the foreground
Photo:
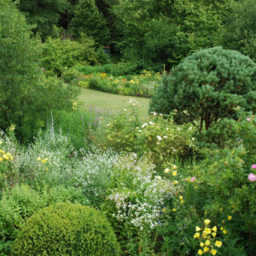
[[[45,207],[29,218],[12,255],[118,255],[119,243],[102,212],[79,204]]]

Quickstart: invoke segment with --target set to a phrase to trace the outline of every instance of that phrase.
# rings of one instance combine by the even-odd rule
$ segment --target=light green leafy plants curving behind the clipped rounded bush
[[[0,240],[11,246],[27,218],[39,209],[63,201],[89,204],[81,189],[74,187],[56,186],[38,192],[23,184],[5,190],[0,201]],[[1,253],[3,250],[0,247]]]

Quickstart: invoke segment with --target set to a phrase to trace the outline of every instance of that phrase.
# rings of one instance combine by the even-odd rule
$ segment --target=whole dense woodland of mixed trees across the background
[[[255,61],[254,0],[20,0],[17,6],[47,38],[90,38],[114,60],[169,70],[198,49],[222,45]]]

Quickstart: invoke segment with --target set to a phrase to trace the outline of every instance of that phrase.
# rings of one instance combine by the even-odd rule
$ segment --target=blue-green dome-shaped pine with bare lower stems
[[[214,47],[175,67],[152,97],[149,111],[177,109],[177,123],[193,122],[201,132],[219,119],[236,119],[236,106],[256,111],[256,64],[236,50]]]

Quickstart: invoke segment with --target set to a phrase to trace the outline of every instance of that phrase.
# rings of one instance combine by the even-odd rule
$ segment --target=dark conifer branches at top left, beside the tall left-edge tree
[[[27,22],[35,25],[32,31],[44,40],[55,35],[60,16],[67,9],[67,0],[20,0],[18,8],[26,15]]]

